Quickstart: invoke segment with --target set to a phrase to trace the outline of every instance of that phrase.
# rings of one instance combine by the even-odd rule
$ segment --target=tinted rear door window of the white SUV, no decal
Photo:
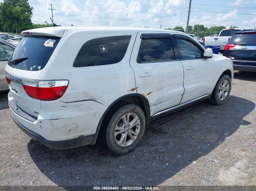
[[[171,39],[142,39],[138,63],[175,60]]]

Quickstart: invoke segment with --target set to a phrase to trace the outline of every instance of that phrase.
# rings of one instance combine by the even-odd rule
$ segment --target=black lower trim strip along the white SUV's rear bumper
[[[69,149],[69,148],[75,148],[75,147],[80,147],[83,145],[94,145],[96,142],[96,134],[92,135],[86,135],[86,136],[80,136],[78,138],[72,138],[68,140],[63,140],[63,141],[49,141],[42,137],[41,135],[31,131],[30,129],[26,128],[22,124],[18,123],[16,119],[12,116],[14,122],[17,124],[17,126],[28,136],[30,136],[32,139],[35,139],[39,142],[41,142],[43,145],[47,146],[48,148],[51,149],[58,149],[58,150],[63,150],[63,149]]]

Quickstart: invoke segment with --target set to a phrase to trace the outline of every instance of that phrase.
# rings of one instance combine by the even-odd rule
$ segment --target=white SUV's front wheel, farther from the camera
[[[227,74],[221,75],[217,84],[215,85],[211,97],[210,103],[214,105],[222,105],[228,100],[231,91],[231,78]]]

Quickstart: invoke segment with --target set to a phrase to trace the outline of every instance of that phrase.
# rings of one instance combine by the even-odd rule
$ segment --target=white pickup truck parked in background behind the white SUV
[[[220,52],[223,52],[224,46],[228,43],[234,33],[239,32],[242,28],[222,29],[216,37],[204,37],[204,46],[220,46]]]

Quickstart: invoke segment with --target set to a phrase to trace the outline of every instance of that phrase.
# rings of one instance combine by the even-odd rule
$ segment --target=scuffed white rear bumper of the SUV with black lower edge
[[[101,113],[106,108],[101,103],[90,100],[78,103],[55,100],[42,103],[40,113],[35,117],[16,105],[11,92],[8,100],[17,126],[31,138],[52,149],[95,144]]]

